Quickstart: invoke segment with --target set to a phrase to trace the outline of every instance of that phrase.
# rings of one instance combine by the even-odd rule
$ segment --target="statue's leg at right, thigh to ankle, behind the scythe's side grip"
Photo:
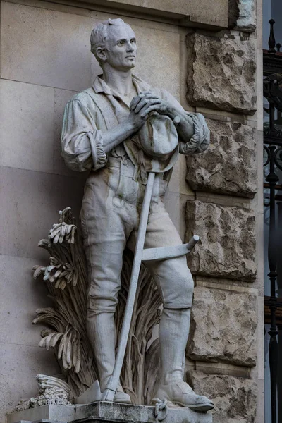
[[[145,248],[179,244],[182,241],[164,205],[161,202],[153,205],[147,224]],[[151,271],[164,303],[159,325],[161,384],[173,383],[183,379],[183,357],[190,328],[194,283],[185,256],[147,262],[145,265]]]

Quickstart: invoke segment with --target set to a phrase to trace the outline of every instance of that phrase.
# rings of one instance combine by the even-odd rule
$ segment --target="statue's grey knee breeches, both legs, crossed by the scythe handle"
[[[123,203],[120,207],[101,184],[87,184],[80,223],[90,278],[88,312],[114,312],[121,288],[123,250],[135,248],[140,207]],[[115,200],[115,201],[114,201]],[[179,245],[182,241],[164,204],[152,204],[147,224],[145,248]],[[193,281],[186,257],[145,262],[159,289],[164,307],[188,308],[192,304]]]

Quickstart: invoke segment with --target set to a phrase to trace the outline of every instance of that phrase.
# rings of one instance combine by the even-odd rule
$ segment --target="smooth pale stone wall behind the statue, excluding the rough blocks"
[[[52,351],[38,347],[42,328],[31,324],[35,309],[49,305],[31,269],[49,262],[37,243],[58,211],[70,206],[79,214],[87,175],[68,171],[61,159],[61,122],[68,99],[101,73],[90,52],[92,28],[109,17],[124,18],[139,41],[137,75],[178,99],[180,82],[185,92],[185,28],[92,8],[1,1],[0,422],[21,398],[37,393],[36,374],[59,373]],[[187,192],[181,157],[166,203],[183,236]]]

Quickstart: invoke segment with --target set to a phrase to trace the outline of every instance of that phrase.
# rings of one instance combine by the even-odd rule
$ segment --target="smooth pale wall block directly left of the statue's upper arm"
[[[0,81],[0,165],[53,172],[53,89]]]

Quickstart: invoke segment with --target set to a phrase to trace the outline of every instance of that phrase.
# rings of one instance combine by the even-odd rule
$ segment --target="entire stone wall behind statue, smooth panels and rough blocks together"
[[[183,239],[191,232],[202,238],[190,261],[196,288],[187,377],[199,393],[214,398],[214,422],[264,421],[257,167],[262,104],[255,98],[262,85],[256,39],[261,30],[250,32],[252,0],[245,9],[245,1],[229,3],[233,30],[210,32],[124,10],[116,15],[101,6],[80,7],[80,1],[75,6],[1,1],[0,422],[20,398],[37,393],[33,376],[59,372],[52,352],[37,346],[40,327],[31,325],[35,309],[48,305],[31,268],[47,263],[37,243],[46,238],[58,210],[70,206],[79,213],[86,175],[63,164],[61,120],[68,99],[100,72],[89,38],[92,27],[108,17],[123,17],[137,34],[135,73],[208,119],[211,148],[187,163],[180,157],[166,198]]]

